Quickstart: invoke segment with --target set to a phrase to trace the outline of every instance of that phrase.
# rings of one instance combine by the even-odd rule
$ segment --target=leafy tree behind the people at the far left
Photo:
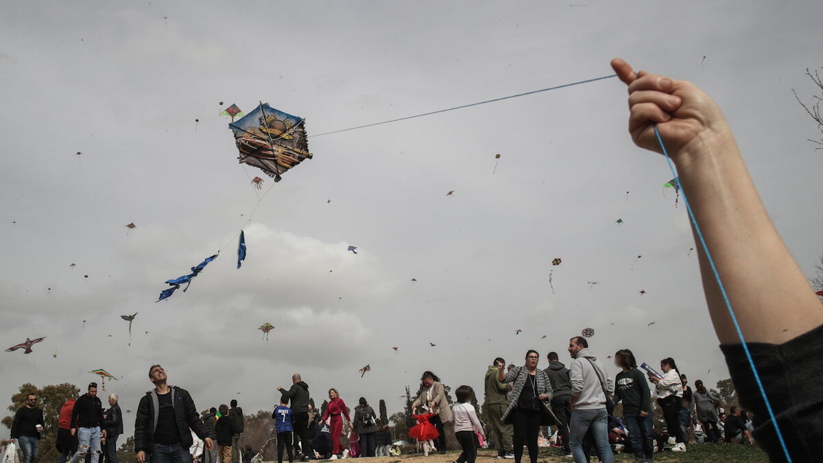
[[[26,396],[30,394],[35,394],[40,399],[37,401],[37,406],[43,409],[43,421],[45,423],[44,433],[40,439],[39,460],[58,461],[60,453],[54,448],[54,443],[57,440],[60,408],[69,397],[79,396],[80,389],[68,383],[43,386],[42,389],[31,383],[20,386],[19,392],[12,395],[12,405],[8,406],[8,411],[12,412],[12,415],[2,419],[2,423],[7,428],[12,428],[14,414],[17,413],[17,409],[26,404]]]

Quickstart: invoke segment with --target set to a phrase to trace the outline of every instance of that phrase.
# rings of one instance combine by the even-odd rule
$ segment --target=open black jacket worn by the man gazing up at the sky
[[[183,388],[170,386],[172,406],[174,406],[174,417],[177,419],[177,428],[180,433],[180,444],[184,448],[192,447],[191,428],[201,439],[209,437],[206,426],[200,421],[200,415],[194,406],[192,396]],[[151,453],[152,440],[154,439],[155,417],[157,416],[159,405],[156,404],[155,391],[148,391],[140,399],[137,405],[137,417],[134,419],[134,451],[146,451]],[[156,395],[155,395],[156,396]]]

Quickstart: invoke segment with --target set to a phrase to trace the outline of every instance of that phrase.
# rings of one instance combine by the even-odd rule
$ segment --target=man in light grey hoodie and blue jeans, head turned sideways
[[[575,463],[586,463],[588,457],[583,450],[583,440],[591,430],[597,455],[602,463],[614,463],[615,457],[609,446],[608,413],[606,394],[614,392],[614,383],[609,380],[603,363],[588,350],[588,341],[576,336],[569,341],[571,358],[571,421],[569,423],[569,444]]]

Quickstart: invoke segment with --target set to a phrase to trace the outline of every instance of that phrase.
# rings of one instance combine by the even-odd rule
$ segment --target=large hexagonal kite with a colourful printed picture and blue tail
[[[235,133],[239,161],[258,167],[280,181],[280,176],[305,159],[311,159],[305,119],[261,102],[242,119],[229,124]]]

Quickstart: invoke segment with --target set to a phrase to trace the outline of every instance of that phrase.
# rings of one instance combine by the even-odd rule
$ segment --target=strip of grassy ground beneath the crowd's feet
[[[380,458],[370,458],[370,463],[452,463],[457,460],[459,452],[449,451],[446,455],[404,455],[387,456]],[[495,451],[481,450],[477,456],[479,463],[497,461]],[[634,456],[619,453],[615,456],[616,461],[635,461]],[[573,459],[564,457],[557,449],[543,448],[540,452],[538,463],[559,463],[561,461],[572,462]],[[593,461],[597,461],[594,459]],[[654,461],[664,461],[668,463],[759,463],[769,461],[765,453],[760,448],[748,445],[734,444],[692,444],[688,451],[684,453],[663,451],[654,456]],[[523,455],[523,462],[528,462],[528,451]]]

